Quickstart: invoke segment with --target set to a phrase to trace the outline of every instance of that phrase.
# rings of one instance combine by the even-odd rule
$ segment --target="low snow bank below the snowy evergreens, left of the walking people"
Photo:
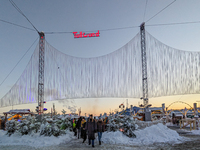
[[[67,132],[63,136],[40,136],[39,133],[32,135],[13,134],[10,137],[6,135],[6,131],[0,130],[0,145],[27,145],[32,147],[43,147],[51,145],[59,145],[75,138],[72,132]]]

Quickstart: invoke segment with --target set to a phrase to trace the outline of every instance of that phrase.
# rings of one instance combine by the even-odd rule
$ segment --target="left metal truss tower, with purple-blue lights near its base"
[[[45,35],[39,32],[39,74],[38,74],[38,114],[43,114],[44,108],[44,51],[45,51]]]

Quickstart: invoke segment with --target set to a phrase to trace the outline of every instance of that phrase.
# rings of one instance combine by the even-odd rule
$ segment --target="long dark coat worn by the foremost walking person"
[[[95,132],[97,131],[97,123],[94,119],[88,120],[85,125],[85,130],[88,134],[88,139],[94,140],[95,139]]]

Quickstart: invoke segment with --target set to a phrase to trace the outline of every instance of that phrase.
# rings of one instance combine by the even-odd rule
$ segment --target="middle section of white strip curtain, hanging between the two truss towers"
[[[46,44],[45,99],[140,97],[140,35],[113,53],[95,58],[63,54]]]

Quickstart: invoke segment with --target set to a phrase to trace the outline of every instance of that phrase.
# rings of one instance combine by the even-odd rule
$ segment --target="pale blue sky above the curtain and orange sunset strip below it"
[[[99,38],[74,39],[72,33],[46,34],[46,40],[59,51],[76,57],[96,57],[111,53],[126,44],[138,32],[143,21],[146,30],[164,44],[187,51],[200,51],[200,23],[151,26],[155,24],[198,22],[200,21],[199,0],[176,0],[167,9],[152,18],[173,0],[14,0],[21,11],[29,18],[39,31],[73,32],[97,31]],[[147,5],[146,5],[147,2]],[[146,5],[146,11],[145,11]],[[146,13],[145,13],[146,12]],[[19,14],[7,0],[0,0],[0,20],[12,22],[28,28],[30,23]],[[20,28],[0,21],[0,83],[38,38],[35,31]],[[25,55],[14,71],[0,86],[0,98],[15,84],[30,60],[36,44]],[[181,100],[192,103],[200,101],[200,95],[169,96],[150,99],[153,106],[166,106],[173,101]],[[119,99],[78,99],[75,105],[82,108],[83,113],[99,114],[118,108],[126,98]],[[129,99],[129,104],[138,106],[140,99]],[[63,103],[54,102],[58,110],[66,109]],[[15,109],[34,109],[37,104],[14,106]],[[46,104],[50,110],[52,102]],[[176,104],[174,107],[185,107]],[[10,107],[0,108],[0,113]],[[69,112],[69,110],[67,110]]]

